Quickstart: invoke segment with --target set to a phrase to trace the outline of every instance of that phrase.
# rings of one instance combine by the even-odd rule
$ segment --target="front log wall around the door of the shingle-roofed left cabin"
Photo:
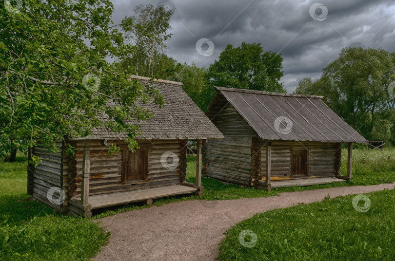
[[[122,184],[121,161],[122,152],[114,153],[112,157],[108,154],[108,148],[100,141],[91,142],[90,151],[90,177],[89,195],[98,195],[111,192],[128,191],[156,186],[174,185],[182,182],[181,164],[184,164],[184,156],[181,152],[182,140],[158,140],[138,141],[138,144],[148,149],[148,179],[144,181],[133,181]],[[124,144],[124,141],[113,141],[112,144]],[[77,177],[75,179],[75,197],[81,195],[83,141],[76,143],[76,154],[74,158],[64,165],[65,169],[76,167]],[[167,169],[162,166],[161,156],[164,152],[173,152],[178,156],[179,163],[176,169]],[[186,162],[186,161],[185,161]],[[171,163],[171,162],[170,162]]]

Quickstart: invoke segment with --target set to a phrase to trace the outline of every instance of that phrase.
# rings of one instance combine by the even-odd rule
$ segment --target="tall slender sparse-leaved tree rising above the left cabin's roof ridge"
[[[173,11],[163,5],[155,8],[152,4],[140,4],[134,12],[134,16],[125,17],[121,24],[127,42],[136,46],[124,66],[133,65],[138,75],[151,77],[158,66],[157,60],[163,58],[163,52],[168,49],[165,42],[172,36],[168,30]]]

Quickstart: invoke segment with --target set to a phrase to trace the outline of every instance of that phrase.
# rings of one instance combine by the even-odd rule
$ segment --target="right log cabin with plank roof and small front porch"
[[[206,115],[225,138],[203,144],[205,175],[265,190],[351,180],[352,144],[368,141],[322,96],[215,88]],[[343,143],[347,176],[340,173]]]

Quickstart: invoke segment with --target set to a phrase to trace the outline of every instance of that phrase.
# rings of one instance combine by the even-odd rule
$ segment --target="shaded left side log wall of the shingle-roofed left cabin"
[[[28,192],[33,198],[40,202],[53,207],[56,211],[67,212],[67,201],[59,203],[48,200],[47,193],[51,188],[62,188],[67,180],[63,180],[62,164],[62,142],[56,144],[59,148],[57,152],[48,151],[48,149],[39,145],[32,148],[31,155],[40,157],[41,162],[37,166],[28,166]],[[30,157],[30,156],[29,156]],[[59,194],[55,193],[55,200]]]

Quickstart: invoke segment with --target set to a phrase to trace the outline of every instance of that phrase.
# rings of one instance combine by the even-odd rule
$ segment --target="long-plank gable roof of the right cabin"
[[[216,103],[230,103],[264,140],[368,143],[336,115],[323,96],[269,93],[215,87],[206,111],[215,116]]]

